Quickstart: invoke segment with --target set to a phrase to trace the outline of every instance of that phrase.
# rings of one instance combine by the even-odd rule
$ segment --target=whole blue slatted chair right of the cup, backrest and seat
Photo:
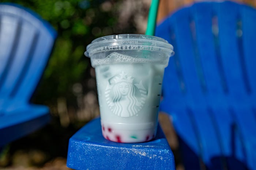
[[[160,109],[186,169],[256,167],[256,10],[202,2],[168,16],[156,36],[173,44]]]

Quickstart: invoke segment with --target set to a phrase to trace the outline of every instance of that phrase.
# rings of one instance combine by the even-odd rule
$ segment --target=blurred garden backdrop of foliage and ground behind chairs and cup
[[[195,0],[160,0],[160,23]],[[255,0],[236,0],[256,7]],[[58,32],[55,46],[32,103],[50,108],[52,120],[34,133],[4,147],[0,170],[65,170],[68,139],[99,115],[94,69],[83,53],[95,38],[120,34],[144,34],[151,0],[1,0],[30,8]],[[175,50],[175,49],[174,49]],[[171,123],[159,121],[183,169]]]

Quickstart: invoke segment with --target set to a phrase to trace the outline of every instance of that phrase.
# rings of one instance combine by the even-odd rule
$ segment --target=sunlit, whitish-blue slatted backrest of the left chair
[[[0,4],[2,110],[29,102],[55,38],[55,30],[34,12],[15,4]]]

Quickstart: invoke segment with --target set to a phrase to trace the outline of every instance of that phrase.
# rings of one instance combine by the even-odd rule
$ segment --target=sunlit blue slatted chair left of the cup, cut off
[[[0,147],[48,122],[48,107],[29,100],[55,38],[54,29],[34,12],[0,4]]]

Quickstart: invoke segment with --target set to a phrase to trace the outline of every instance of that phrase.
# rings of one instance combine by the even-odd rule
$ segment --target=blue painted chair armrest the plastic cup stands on
[[[117,143],[103,138],[99,118],[69,139],[67,166],[77,170],[175,169],[172,150],[160,127],[152,141]]]

